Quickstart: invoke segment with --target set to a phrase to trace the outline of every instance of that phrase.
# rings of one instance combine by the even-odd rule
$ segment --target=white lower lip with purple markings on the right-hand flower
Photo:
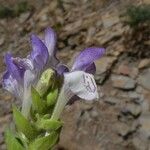
[[[97,86],[93,75],[83,71],[75,71],[64,75],[64,86],[72,93],[85,100],[98,98]]]

